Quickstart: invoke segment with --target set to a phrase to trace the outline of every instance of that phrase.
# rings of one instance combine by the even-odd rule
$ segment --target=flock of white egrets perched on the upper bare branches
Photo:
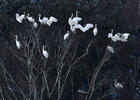
[[[86,25],[82,26],[80,24],[80,21],[82,21],[82,18],[78,16],[78,11],[76,11],[76,15],[74,16],[74,14],[71,14],[71,17],[68,19],[68,24],[70,26],[70,31],[72,33],[75,33],[78,29],[82,32],[87,32],[90,29],[93,29],[93,35],[97,36],[98,34],[98,28],[97,28],[97,24],[93,25],[91,23],[87,23]],[[32,23],[32,25],[34,26],[34,28],[38,27],[38,23],[42,24],[42,25],[48,25],[49,27],[52,25],[52,23],[57,23],[58,19],[50,16],[50,17],[42,17],[41,18],[41,14],[38,14],[38,22],[35,20],[35,18],[33,18],[32,16],[30,16],[29,14],[21,14],[19,15],[18,13],[16,13],[16,20],[19,23],[23,23],[23,20],[28,20],[30,23]],[[64,36],[63,36],[63,40],[66,40],[69,38],[70,36],[70,31],[67,31]],[[111,30],[111,33],[108,33],[108,38],[111,39],[113,42],[117,42],[117,41],[121,41],[121,42],[127,42],[127,39],[129,37],[129,33],[116,33],[115,35],[113,35],[113,29]],[[21,44],[18,40],[18,36],[16,35],[16,46],[18,49],[21,48]],[[113,47],[111,46],[107,46],[107,49],[109,52],[111,53],[115,53]],[[45,58],[49,57],[48,52],[45,50],[45,47],[43,45],[42,48],[42,54]]]

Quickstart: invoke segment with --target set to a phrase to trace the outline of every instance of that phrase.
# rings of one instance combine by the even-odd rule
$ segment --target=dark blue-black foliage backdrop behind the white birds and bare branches
[[[76,33],[77,39],[72,36],[73,44],[70,47],[70,54],[73,54],[77,49],[74,60],[85,52],[90,41],[94,41],[94,43],[91,44],[88,54],[72,67],[60,100],[89,100],[85,99],[86,94],[80,94],[77,90],[88,90],[90,79],[104,57],[106,46],[110,43],[115,46],[117,52],[111,56],[110,60],[104,63],[103,68],[100,70],[96,83],[101,80],[103,83],[94,91],[91,100],[140,100],[140,0],[0,0],[0,100],[2,98],[1,90],[5,100],[16,100],[14,95],[17,96],[17,100],[23,100],[22,93],[18,91],[19,89],[12,82],[9,83],[14,93],[9,90],[3,75],[3,65],[19,87],[23,89],[25,95],[29,96],[26,78],[21,77],[22,72],[29,74],[28,69],[15,56],[16,54],[21,56],[21,51],[18,51],[15,47],[16,34],[24,41],[24,35],[28,36],[28,34],[37,34],[39,32],[40,44],[45,44],[50,55],[52,55],[46,65],[43,65],[43,60],[43,64],[40,64],[40,66],[45,66],[43,70],[49,70],[47,77],[49,87],[52,87],[54,79],[57,77],[56,60],[59,59],[55,56],[56,51],[59,49],[57,45],[62,48],[63,43],[59,38],[69,30],[69,26],[66,23],[71,13],[75,13],[77,10],[79,11],[79,16],[83,18],[82,24],[85,24],[85,22],[98,24],[99,34],[97,37],[93,37],[93,34],[90,34],[92,32],[82,33],[78,31]],[[40,25],[40,29],[33,30],[28,22],[25,21],[24,24],[19,24],[16,21],[15,13],[21,14],[23,12],[30,13],[36,19],[38,19],[39,13],[43,16],[56,16],[59,22],[50,28]],[[110,29],[114,29],[115,32],[130,33],[128,42],[112,43],[107,38]],[[56,37],[53,37],[53,35]],[[59,41],[53,41],[54,39]],[[34,45],[35,40],[32,40],[30,47]],[[38,47],[35,48],[38,49]],[[34,51],[34,54],[36,60],[42,59],[38,56],[40,54],[37,51]],[[71,61],[69,55],[64,60],[66,65],[62,72],[64,73],[62,74],[62,79],[65,78],[68,66],[74,62],[74,60]],[[49,66],[49,69],[47,69],[47,66]],[[41,72],[41,69],[34,70],[35,75],[38,71]],[[42,74],[39,74],[38,77],[36,87],[40,90]],[[10,76],[8,78],[10,79]],[[113,86],[114,79],[121,82],[124,88],[115,90]],[[56,90],[54,89],[54,96],[51,100],[56,100]],[[111,94],[99,98],[104,93],[112,90]],[[44,91],[46,94],[43,94],[42,100],[49,100],[47,89]]]

